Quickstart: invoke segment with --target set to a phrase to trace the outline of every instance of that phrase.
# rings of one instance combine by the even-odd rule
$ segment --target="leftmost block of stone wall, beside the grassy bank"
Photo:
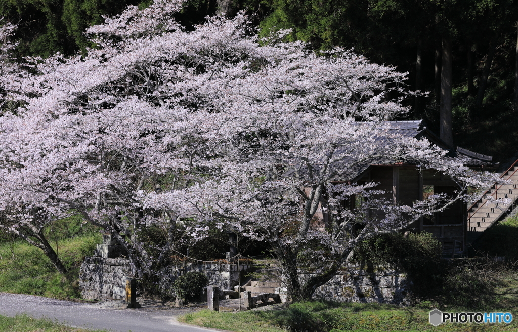
[[[124,299],[126,279],[135,272],[124,258],[85,257],[79,271],[79,287],[85,299]]]

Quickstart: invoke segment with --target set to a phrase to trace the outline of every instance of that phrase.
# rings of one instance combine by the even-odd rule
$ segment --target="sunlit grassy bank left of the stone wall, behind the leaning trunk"
[[[43,295],[60,299],[79,298],[79,268],[102,241],[98,234],[57,241],[57,252],[65,267],[61,275],[42,250],[22,241],[0,242],[0,292]],[[56,243],[53,243],[54,250]]]

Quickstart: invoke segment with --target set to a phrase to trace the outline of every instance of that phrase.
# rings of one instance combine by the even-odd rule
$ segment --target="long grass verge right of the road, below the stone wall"
[[[511,324],[429,324],[429,308],[379,304],[299,302],[282,310],[213,312],[203,310],[180,317],[180,321],[235,332],[252,331],[515,331]],[[448,308],[448,311],[455,311]],[[518,311],[507,310],[518,317]]]

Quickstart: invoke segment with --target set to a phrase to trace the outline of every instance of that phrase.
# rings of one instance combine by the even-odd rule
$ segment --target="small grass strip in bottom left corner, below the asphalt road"
[[[27,315],[6,317],[0,315],[0,332],[87,332],[91,330],[73,328],[48,319],[34,319]],[[106,330],[95,330],[103,332]]]

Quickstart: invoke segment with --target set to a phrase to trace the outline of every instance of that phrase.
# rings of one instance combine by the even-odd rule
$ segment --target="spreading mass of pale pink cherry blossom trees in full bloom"
[[[126,246],[150,279],[179,239],[177,219],[195,215],[184,222],[193,239],[215,224],[268,242],[290,298],[304,299],[362,240],[494,181],[389,130],[386,121],[408,112],[405,74],[348,50],[316,54],[283,42],[283,32],[260,39],[244,15],[188,32],[173,19],[181,5],[129,7],[88,30],[96,44],[88,56],[28,59],[30,73],[10,76],[19,89],[9,97],[23,107],[0,118],[7,218],[81,214]],[[376,183],[333,181],[376,158],[442,171],[459,194],[395,207],[374,199]],[[352,195],[372,197],[370,205],[342,208]],[[314,227],[319,203],[332,215],[325,231]],[[367,218],[373,205],[383,218]],[[169,232],[154,257],[139,241],[146,224]],[[301,280],[307,268],[313,274]]]

